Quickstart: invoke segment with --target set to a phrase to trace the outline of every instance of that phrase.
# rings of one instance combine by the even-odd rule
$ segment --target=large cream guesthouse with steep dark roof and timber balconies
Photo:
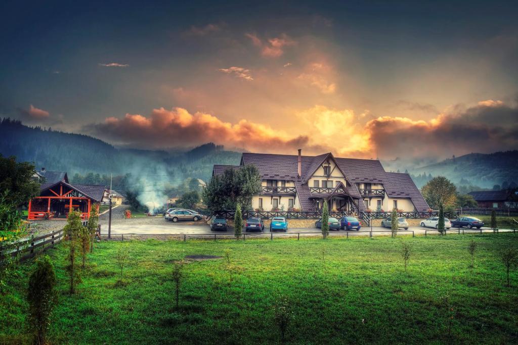
[[[348,212],[402,212],[429,209],[409,174],[386,172],[379,160],[243,153],[239,166],[214,165],[212,175],[246,164],[257,167],[262,193],[252,206],[264,211],[315,211],[324,200],[329,209]]]

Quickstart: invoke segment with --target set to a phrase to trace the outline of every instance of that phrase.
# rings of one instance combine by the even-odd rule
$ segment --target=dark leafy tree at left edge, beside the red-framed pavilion
[[[35,173],[33,164],[0,154],[0,195],[16,206],[27,203],[39,193],[39,183],[33,178]]]

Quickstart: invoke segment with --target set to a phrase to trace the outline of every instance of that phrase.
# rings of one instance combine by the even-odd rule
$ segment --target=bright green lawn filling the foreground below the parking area
[[[468,243],[477,252],[469,268]],[[401,242],[412,246],[408,273]],[[89,255],[77,294],[67,293],[65,246],[49,251],[59,278],[52,344],[278,343],[279,298],[294,318],[289,343],[516,343],[518,275],[505,286],[502,247],[518,234],[399,238],[255,239],[245,242],[102,242]],[[117,283],[118,248],[131,262]],[[233,281],[222,259],[183,266],[175,308],[172,267],[189,254],[232,250]],[[325,250],[325,267],[322,250]],[[0,343],[24,343],[31,267],[21,268],[0,302]],[[453,307],[448,335],[448,310]]]

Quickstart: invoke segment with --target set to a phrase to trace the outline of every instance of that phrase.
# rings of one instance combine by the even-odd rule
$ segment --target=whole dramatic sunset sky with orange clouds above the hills
[[[518,3],[2,2],[0,117],[138,148],[518,149]]]

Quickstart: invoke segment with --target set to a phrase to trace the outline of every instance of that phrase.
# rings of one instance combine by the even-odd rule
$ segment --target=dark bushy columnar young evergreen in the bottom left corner
[[[56,275],[48,256],[36,260],[36,269],[29,278],[27,302],[34,344],[45,345],[50,313],[54,306]]]

